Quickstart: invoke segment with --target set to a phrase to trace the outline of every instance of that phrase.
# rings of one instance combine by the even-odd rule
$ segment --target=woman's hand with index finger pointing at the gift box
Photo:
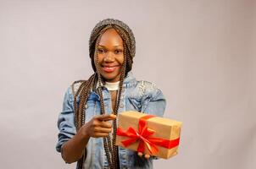
[[[112,124],[107,122],[114,120],[116,116],[114,114],[103,114],[92,117],[88,123],[85,123],[80,132],[85,138],[99,138],[107,137],[112,131]]]

